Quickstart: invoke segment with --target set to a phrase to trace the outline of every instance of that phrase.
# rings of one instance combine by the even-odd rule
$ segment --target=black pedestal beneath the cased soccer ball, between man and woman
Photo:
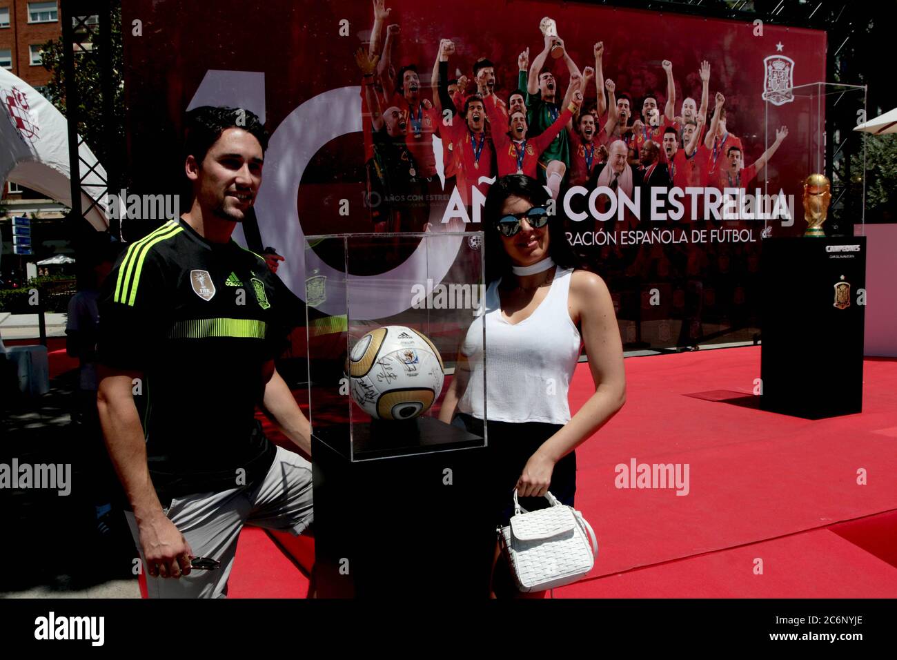
[[[311,440],[318,597],[488,597],[496,534],[483,439],[433,418],[356,425],[352,462],[335,442],[344,430]]]

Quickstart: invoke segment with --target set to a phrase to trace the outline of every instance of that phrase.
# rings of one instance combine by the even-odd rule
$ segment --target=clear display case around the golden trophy
[[[782,61],[769,66],[788,66],[778,59]],[[775,71],[771,76],[775,77]],[[855,227],[857,234],[863,234],[866,134],[854,128],[866,121],[866,87],[811,83],[777,89],[771,85],[763,99],[765,136],[758,153],[745,154],[745,165],[774,148],[757,174],[757,185],[768,197],[781,199],[780,207],[788,207],[787,214],[764,219],[763,236],[806,235],[807,216],[813,212],[805,209],[804,183],[811,174],[822,174],[830,189],[826,213],[815,212],[816,224],[819,216],[825,216],[823,233],[814,235],[853,236]],[[788,133],[776,147],[782,127]],[[824,195],[824,180],[816,181],[820,185],[811,192]]]

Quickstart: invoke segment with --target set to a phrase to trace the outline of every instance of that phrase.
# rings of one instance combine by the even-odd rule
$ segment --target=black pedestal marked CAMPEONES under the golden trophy
[[[761,281],[761,408],[861,412],[866,238],[764,239]]]

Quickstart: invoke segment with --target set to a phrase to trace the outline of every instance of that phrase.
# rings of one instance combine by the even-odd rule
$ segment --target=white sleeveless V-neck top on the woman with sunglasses
[[[567,299],[572,269],[555,267],[552,286],[536,311],[518,323],[501,315],[498,287],[486,290],[486,416],[483,415],[483,313],[467,330],[461,352],[470,365],[470,382],[458,412],[501,422],[570,421],[567,391],[579,359],[579,330]]]

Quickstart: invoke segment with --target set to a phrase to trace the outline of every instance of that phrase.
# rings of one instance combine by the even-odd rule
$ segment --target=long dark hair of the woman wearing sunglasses
[[[509,197],[526,199],[534,207],[545,206],[550,199],[548,191],[535,179],[525,174],[509,174],[495,181],[486,195],[483,207],[483,233],[486,246],[486,283],[510,273],[512,266],[501,242],[496,224],[501,219],[501,209]],[[561,268],[585,268],[577,258],[564,233],[563,218],[554,214],[548,219],[548,254]]]

